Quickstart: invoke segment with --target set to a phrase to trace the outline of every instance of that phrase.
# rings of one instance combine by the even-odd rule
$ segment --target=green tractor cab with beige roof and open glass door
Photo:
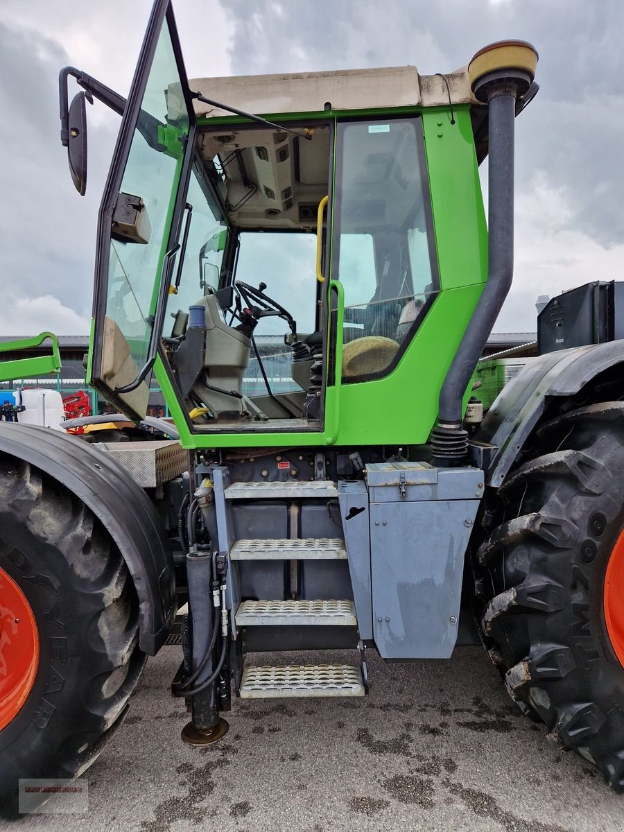
[[[165,2],[127,102],[64,72],[123,114],[92,385],[136,419],[156,374],[188,448],[206,434],[213,447],[365,443],[373,428],[375,442],[426,442],[486,279],[467,71],[188,82]],[[84,109],[72,102],[65,122],[79,188]],[[411,411],[396,407],[406,391]]]

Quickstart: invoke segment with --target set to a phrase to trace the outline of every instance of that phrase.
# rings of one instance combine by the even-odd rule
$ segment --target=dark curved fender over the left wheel
[[[169,541],[143,489],[108,454],[50,428],[0,422],[0,453],[56,479],[102,522],[136,587],[141,650],[154,656],[176,614],[176,577]]]

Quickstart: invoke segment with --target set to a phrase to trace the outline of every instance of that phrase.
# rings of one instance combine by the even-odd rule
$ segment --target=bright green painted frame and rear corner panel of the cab
[[[438,416],[438,394],[487,280],[488,235],[468,106],[421,112],[441,290],[399,364],[382,379],[340,383],[325,391],[324,430],[290,433],[192,433],[169,375],[159,358],[156,379],[185,448],[252,448],[326,445],[422,444]],[[383,115],[387,111],[374,111]],[[366,111],[365,115],[370,115]],[[298,114],[327,120],[337,113]],[[353,112],[349,112],[353,116]],[[284,117],[283,115],[281,116]],[[241,119],[210,120],[235,123]],[[200,121],[202,123],[202,121]],[[334,277],[337,275],[330,275]],[[337,280],[330,287],[339,292]],[[341,355],[339,314],[337,353]],[[467,397],[468,399],[468,397]],[[465,403],[464,403],[465,404]],[[374,414],[374,415],[373,415]],[[287,423],[285,423],[286,427]]]

